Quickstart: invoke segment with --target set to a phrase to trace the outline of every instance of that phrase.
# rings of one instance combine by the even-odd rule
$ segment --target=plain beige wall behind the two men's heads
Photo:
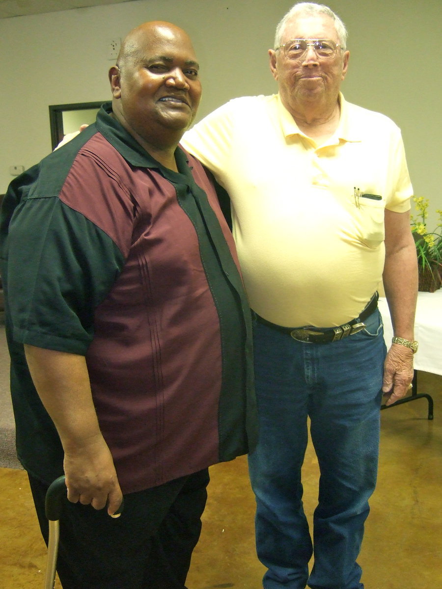
[[[293,0],[294,1],[294,0]],[[138,0],[0,20],[0,193],[50,151],[48,105],[107,100],[110,39],[164,19],[192,36],[202,65],[199,117],[232,97],[268,94],[267,49],[291,0]],[[442,0],[333,0],[349,29],[347,100],[403,130],[415,193],[442,209]]]

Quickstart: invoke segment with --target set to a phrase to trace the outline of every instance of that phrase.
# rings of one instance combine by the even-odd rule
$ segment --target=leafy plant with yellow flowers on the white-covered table
[[[434,231],[427,230],[428,205],[430,200],[423,196],[413,197],[417,216],[411,216],[411,231],[416,244],[417,262],[424,270],[433,269],[442,264],[442,210],[436,210],[439,220]]]

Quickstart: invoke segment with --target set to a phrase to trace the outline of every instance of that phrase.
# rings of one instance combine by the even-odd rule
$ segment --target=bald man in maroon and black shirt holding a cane
[[[183,589],[207,469],[255,445],[249,306],[215,188],[178,147],[201,96],[189,37],[141,25],[109,80],[97,121],[4,199],[17,452],[46,540],[65,474],[64,589]]]

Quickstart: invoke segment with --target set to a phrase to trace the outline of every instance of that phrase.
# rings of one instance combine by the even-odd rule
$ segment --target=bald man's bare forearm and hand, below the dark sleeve
[[[68,499],[107,505],[114,514],[121,504],[111,452],[101,435],[84,356],[25,345],[35,388],[51,416],[64,449]]]

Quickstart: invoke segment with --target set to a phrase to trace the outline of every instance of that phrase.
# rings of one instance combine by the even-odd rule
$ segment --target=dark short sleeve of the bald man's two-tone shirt
[[[81,191],[79,183],[76,188]],[[86,183],[83,191],[88,192]],[[58,195],[39,191],[17,207],[8,240],[14,340],[85,355],[94,310],[123,267],[116,243]]]

